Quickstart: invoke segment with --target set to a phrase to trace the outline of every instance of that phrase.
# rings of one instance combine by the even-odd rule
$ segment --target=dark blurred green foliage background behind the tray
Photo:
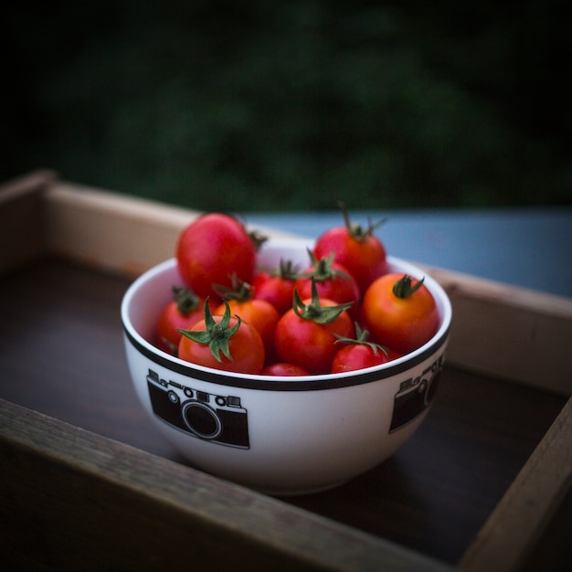
[[[564,1],[3,11],[3,180],[205,210],[572,204]]]

